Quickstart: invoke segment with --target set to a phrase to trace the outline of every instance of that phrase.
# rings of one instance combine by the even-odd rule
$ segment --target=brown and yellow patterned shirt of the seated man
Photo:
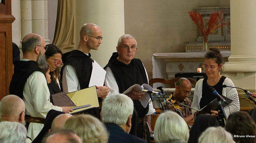
[[[177,103],[174,100],[174,97],[172,97],[172,96],[173,95],[171,94],[170,97],[168,99],[166,99],[166,104],[167,104],[166,109],[172,110],[172,111],[178,113],[182,118],[186,118],[192,114],[191,108],[188,108],[186,106],[183,106],[183,105]],[[188,98],[184,99],[184,101],[180,101],[180,103],[187,105],[189,107],[191,107],[191,105],[192,105],[191,101]]]

